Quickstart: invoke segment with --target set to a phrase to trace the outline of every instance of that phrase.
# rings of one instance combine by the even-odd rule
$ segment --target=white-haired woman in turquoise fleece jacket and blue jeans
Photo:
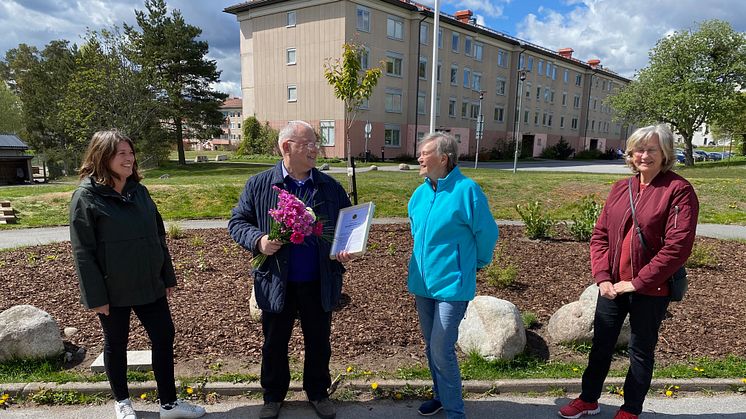
[[[498,230],[482,189],[456,166],[456,140],[436,132],[420,147],[417,161],[425,181],[408,205],[414,239],[408,287],[425,338],[433,399],[419,413],[429,416],[445,409],[448,419],[465,418],[456,358],[458,327],[476,293],[477,270],[492,260]]]

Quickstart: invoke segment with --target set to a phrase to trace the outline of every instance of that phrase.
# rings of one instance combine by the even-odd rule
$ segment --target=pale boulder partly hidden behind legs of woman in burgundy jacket
[[[593,319],[596,315],[598,298],[598,286],[591,284],[583,291],[578,301],[565,304],[552,314],[547,325],[547,333],[552,342],[592,343]],[[629,316],[627,316],[622,331],[619,333],[617,346],[626,346],[629,343],[630,333]]]

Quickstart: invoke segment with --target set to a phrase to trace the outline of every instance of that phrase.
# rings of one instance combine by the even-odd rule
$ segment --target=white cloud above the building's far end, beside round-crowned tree
[[[746,31],[742,0],[572,0],[575,7],[559,13],[541,7],[518,25],[518,37],[545,48],[573,48],[581,60],[601,64],[626,77],[647,66],[648,52],[658,39],[698,22],[722,19]]]

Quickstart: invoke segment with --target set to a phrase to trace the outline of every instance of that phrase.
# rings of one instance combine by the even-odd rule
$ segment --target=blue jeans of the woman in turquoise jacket
[[[439,301],[415,296],[425,354],[433,377],[433,396],[440,400],[448,419],[466,418],[461,395],[461,371],[456,358],[458,326],[468,301]]]

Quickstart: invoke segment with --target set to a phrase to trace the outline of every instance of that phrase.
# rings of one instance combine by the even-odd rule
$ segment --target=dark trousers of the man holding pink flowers
[[[303,330],[305,360],[303,362],[303,390],[309,400],[328,397],[331,385],[329,343],[332,313],[321,306],[319,281],[288,282],[285,305],[281,313],[262,312],[262,388],[265,402],[281,402],[290,386],[288,345],[296,317]]]

